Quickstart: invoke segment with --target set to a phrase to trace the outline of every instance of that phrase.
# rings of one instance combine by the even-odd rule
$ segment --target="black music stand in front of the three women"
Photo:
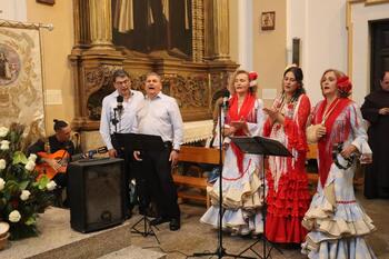
[[[266,238],[266,176],[265,176],[265,157],[266,156],[275,156],[275,157],[292,157],[292,155],[289,152],[289,150],[279,141],[273,140],[273,139],[269,139],[269,138],[263,138],[263,137],[235,137],[231,138],[232,142],[236,143],[239,149],[245,152],[245,153],[253,153],[253,155],[261,155],[262,156],[262,175],[263,175],[263,187],[262,187],[262,195],[263,195],[263,206],[262,206],[262,221],[263,221],[263,233],[261,235],[261,237],[255,241],[252,245],[250,245],[247,249],[245,249],[240,255],[243,255],[246,251],[251,250],[252,252],[255,252],[257,256],[259,256],[259,258],[262,259],[267,259],[267,258],[271,258],[270,252],[271,250],[275,248],[276,250],[278,250],[280,253],[283,255],[283,252],[277,248],[272,242],[270,242],[267,238]],[[255,251],[252,249],[253,246],[256,246],[259,241],[262,241],[262,246],[263,246],[263,251],[262,251],[262,256],[260,256],[259,253],[257,253],[257,251]],[[270,249],[269,252],[267,253],[266,251],[266,243],[269,242],[270,245]]]

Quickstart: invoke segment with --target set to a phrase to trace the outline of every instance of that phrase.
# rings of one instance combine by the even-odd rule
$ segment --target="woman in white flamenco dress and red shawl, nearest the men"
[[[255,79],[255,73],[243,70],[237,71],[232,77],[233,87],[229,89],[232,97],[226,113],[225,136],[261,135],[265,122],[263,102],[256,98]],[[232,235],[258,235],[263,232],[262,159],[258,155],[242,153],[228,137],[223,141],[226,153],[222,169],[222,229]],[[217,137],[216,140],[218,139]],[[218,146],[218,141],[215,145]],[[218,228],[219,178],[207,191],[212,206],[200,221]]]

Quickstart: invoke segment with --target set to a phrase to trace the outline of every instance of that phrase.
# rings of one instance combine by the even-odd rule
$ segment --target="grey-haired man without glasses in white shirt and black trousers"
[[[134,152],[142,160],[151,196],[157,205],[159,217],[151,225],[170,221],[170,230],[180,229],[180,209],[177,203],[177,190],[171,176],[171,167],[178,161],[180,145],[183,140],[183,123],[176,99],[161,92],[161,78],[151,72],[146,79],[146,98],[137,110],[134,131],[142,135],[160,136],[163,150]]]

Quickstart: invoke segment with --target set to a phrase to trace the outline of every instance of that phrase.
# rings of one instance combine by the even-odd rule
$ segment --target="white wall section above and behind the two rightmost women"
[[[319,80],[326,69],[347,71],[346,0],[287,0],[287,57],[300,38],[300,66],[312,106],[322,99]]]

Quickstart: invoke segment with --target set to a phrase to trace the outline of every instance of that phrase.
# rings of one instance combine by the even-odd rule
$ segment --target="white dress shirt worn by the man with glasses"
[[[119,112],[116,111],[116,118],[118,120],[117,126],[112,123],[114,119],[114,109],[118,107],[117,97],[118,91],[102,99],[101,119],[100,119],[100,135],[108,149],[112,149],[111,135],[130,133],[136,120],[136,111],[138,104],[144,99],[140,91],[131,90],[131,97],[128,100],[123,100],[123,109]],[[116,131],[117,130],[117,131]]]

